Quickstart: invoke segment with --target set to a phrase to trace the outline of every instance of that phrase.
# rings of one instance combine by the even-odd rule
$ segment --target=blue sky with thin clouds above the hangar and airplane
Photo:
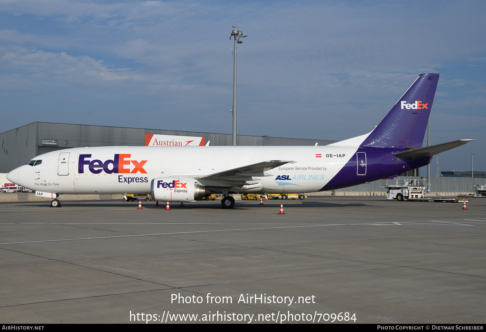
[[[34,121],[341,140],[440,73],[441,170],[486,171],[484,1],[0,0],[0,132]],[[422,175],[425,172],[422,173]],[[435,159],[432,174],[435,173]]]

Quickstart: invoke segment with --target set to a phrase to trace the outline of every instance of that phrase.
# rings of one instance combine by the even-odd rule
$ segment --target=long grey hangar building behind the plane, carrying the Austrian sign
[[[0,133],[2,149],[0,173],[8,173],[18,166],[27,164],[29,160],[39,154],[55,150],[84,147],[144,146],[148,145],[147,138],[154,135],[196,136],[203,138],[203,142],[210,141],[211,146],[230,146],[232,142],[232,135],[224,133],[33,122]],[[272,136],[237,136],[237,145],[239,146],[312,146],[315,143],[328,145],[334,142],[337,141]]]

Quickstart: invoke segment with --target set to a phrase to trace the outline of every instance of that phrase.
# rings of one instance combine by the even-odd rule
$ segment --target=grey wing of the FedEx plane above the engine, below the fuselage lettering
[[[214,174],[209,174],[209,175],[204,175],[200,176],[198,178],[195,178],[197,180],[214,180],[214,181],[220,181],[220,182],[227,182],[227,180],[239,180],[239,181],[248,181],[248,180],[260,180],[260,179],[255,179],[253,177],[256,176],[272,176],[273,174],[265,173],[265,171],[268,171],[270,169],[273,169],[278,166],[282,166],[285,164],[293,164],[295,161],[289,161],[289,160],[269,160],[266,162],[261,162],[258,164],[253,164],[253,165],[248,165],[248,166],[243,166],[243,167],[238,167],[238,168],[233,168],[229,169],[223,172],[219,173],[214,173]]]

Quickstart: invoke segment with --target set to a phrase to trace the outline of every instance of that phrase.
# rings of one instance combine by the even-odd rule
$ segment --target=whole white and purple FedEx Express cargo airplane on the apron
[[[309,193],[398,176],[462,139],[422,148],[439,74],[421,74],[369,133],[327,146],[98,147],[44,153],[8,173],[12,183],[59,194],[148,193],[190,202],[223,194]]]

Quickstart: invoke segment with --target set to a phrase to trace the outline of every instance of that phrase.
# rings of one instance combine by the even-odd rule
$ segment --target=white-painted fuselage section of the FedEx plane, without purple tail
[[[264,161],[287,160],[295,163],[276,167],[266,171],[264,176],[251,179],[261,186],[230,189],[229,192],[306,193],[324,187],[357,149],[341,146],[63,149],[33,158],[42,163],[16,168],[9,173],[9,180],[32,190],[57,194],[149,193],[155,178],[197,179]],[[228,181],[198,180],[203,186],[215,188],[228,188]]]

